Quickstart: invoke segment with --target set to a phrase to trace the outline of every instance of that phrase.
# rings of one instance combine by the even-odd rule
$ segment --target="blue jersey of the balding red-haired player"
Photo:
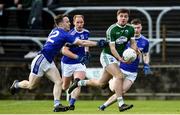
[[[69,31],[71,35],[73,35],[75,38],[81,39],[81,40],[88,40],[89,38],[89,31],[86,29],[83,29],[81,32],[78,32],[75,28]],[[77,46],[69,49],[72,53],[78,55],[79,57],[82,57],[85,55],[85,49],[82,46]],[[79,63],[79,60],[72,59],[68,56],[63,56],[61,61],[66,64],[76,64]]]

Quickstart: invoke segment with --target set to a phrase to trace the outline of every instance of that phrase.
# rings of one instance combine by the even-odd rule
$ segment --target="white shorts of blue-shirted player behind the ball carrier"
[[[121,71],[124,74],[125,79],[128,79],[128,80],[132,81],[132,83],[134,83],[134,81],[137,78],[137,72],[129,72],[129,71],[125,71],[123,69],[121,69]]]

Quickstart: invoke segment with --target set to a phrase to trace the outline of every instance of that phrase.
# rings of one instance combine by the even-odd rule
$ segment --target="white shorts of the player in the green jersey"
[[[117,61],[115,57],[107,53],[103,53],[103,52],[101,52],[100,62],[103,68],[105,68],[107,65],[112,64],[112,63],[117,63],[119,65],[119,62]]]

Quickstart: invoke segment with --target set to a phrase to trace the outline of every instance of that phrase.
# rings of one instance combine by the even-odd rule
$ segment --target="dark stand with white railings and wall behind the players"
[[[71,22],[75,14],[84,15],[90,40],[99,40],[105,38],[107,28],[116,22],[119,8],[130,9],[129,21],[142,20],[142,34],[150,41],[153,71],[145,76],[141,64],[138,78],[126,98],[180,99],[179,0],[0,0],[0,99],[52,98],[53,84],[46,77],[35,90],[21,90],[16,96],[10,95],[9,87],[15,79],[28,79],[29,64],[54,27],[55,15],[68,14]],[[88,68],[101,68],[101,50],[90,48],[92,58]],[[59,57],[55,60],[59,68]],[[104,99],[110,94],[108,89],[83,87],[80,98]],[[62,98],[65,97],[63,92]]]

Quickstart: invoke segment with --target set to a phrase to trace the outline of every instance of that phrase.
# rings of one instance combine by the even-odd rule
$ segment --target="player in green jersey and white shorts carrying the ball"
[[[123,73],[119,69],[119,62],[125,62],[121,57],[128,41],[131,47],[137,51],[137,46],[134,38],[134,28],[127,24],[129,19],[128,9],[119,9],[117,11],[117,23],[112,24],[106,31],[106,39],[109,41],[109,46],[104,48],[100,61],[103,66],[103,73],[99,80],[75,80],[69,88],[69,93],[78,86],[97,86],[103,87],[112,78],[115,78],[114,91],[118,102],[119,111],[125,111],[133,107],[127,105],[123,101]],[[129,63],[129,62],[125,62]]]

